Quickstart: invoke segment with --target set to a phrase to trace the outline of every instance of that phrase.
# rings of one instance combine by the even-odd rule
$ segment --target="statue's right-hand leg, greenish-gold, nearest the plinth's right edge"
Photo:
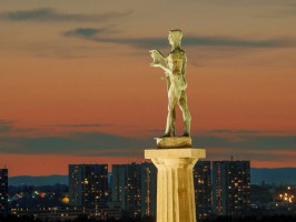
[[[180,107],[181,113],[182,113],[182,120],[184,120],[184,137],[190,135],[190,123],[191,123],[191,115],[187,105],[187,97],[185,91],[181,91],[180,99],[178,101],[178,104]]]

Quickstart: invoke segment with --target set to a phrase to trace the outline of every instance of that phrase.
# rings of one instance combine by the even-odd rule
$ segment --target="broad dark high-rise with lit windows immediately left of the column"
[[[114,164],[111,200],[120,202],[124,213],[156,215],[156,168],[152,163]]]

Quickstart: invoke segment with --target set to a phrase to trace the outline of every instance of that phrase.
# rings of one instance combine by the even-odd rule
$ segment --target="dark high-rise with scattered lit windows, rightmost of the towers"
[[[241,216],[250,204],[249,161],[213,162],[213,212]]]

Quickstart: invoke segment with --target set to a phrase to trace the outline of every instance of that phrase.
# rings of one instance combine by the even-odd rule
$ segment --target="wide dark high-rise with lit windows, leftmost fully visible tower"
[[[70,205],[77,209],[106,209],[108,201],[108,165],[70,164],[69,199]]]

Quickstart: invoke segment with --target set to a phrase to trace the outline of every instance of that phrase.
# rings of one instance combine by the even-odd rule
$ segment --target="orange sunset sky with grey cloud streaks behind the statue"
[[[184,31],[194,147],[296,168],[295,24],[292,0],[0,0],[0,168],[141,161],[167,115],[148,51],[169,53],[170,29]]]

